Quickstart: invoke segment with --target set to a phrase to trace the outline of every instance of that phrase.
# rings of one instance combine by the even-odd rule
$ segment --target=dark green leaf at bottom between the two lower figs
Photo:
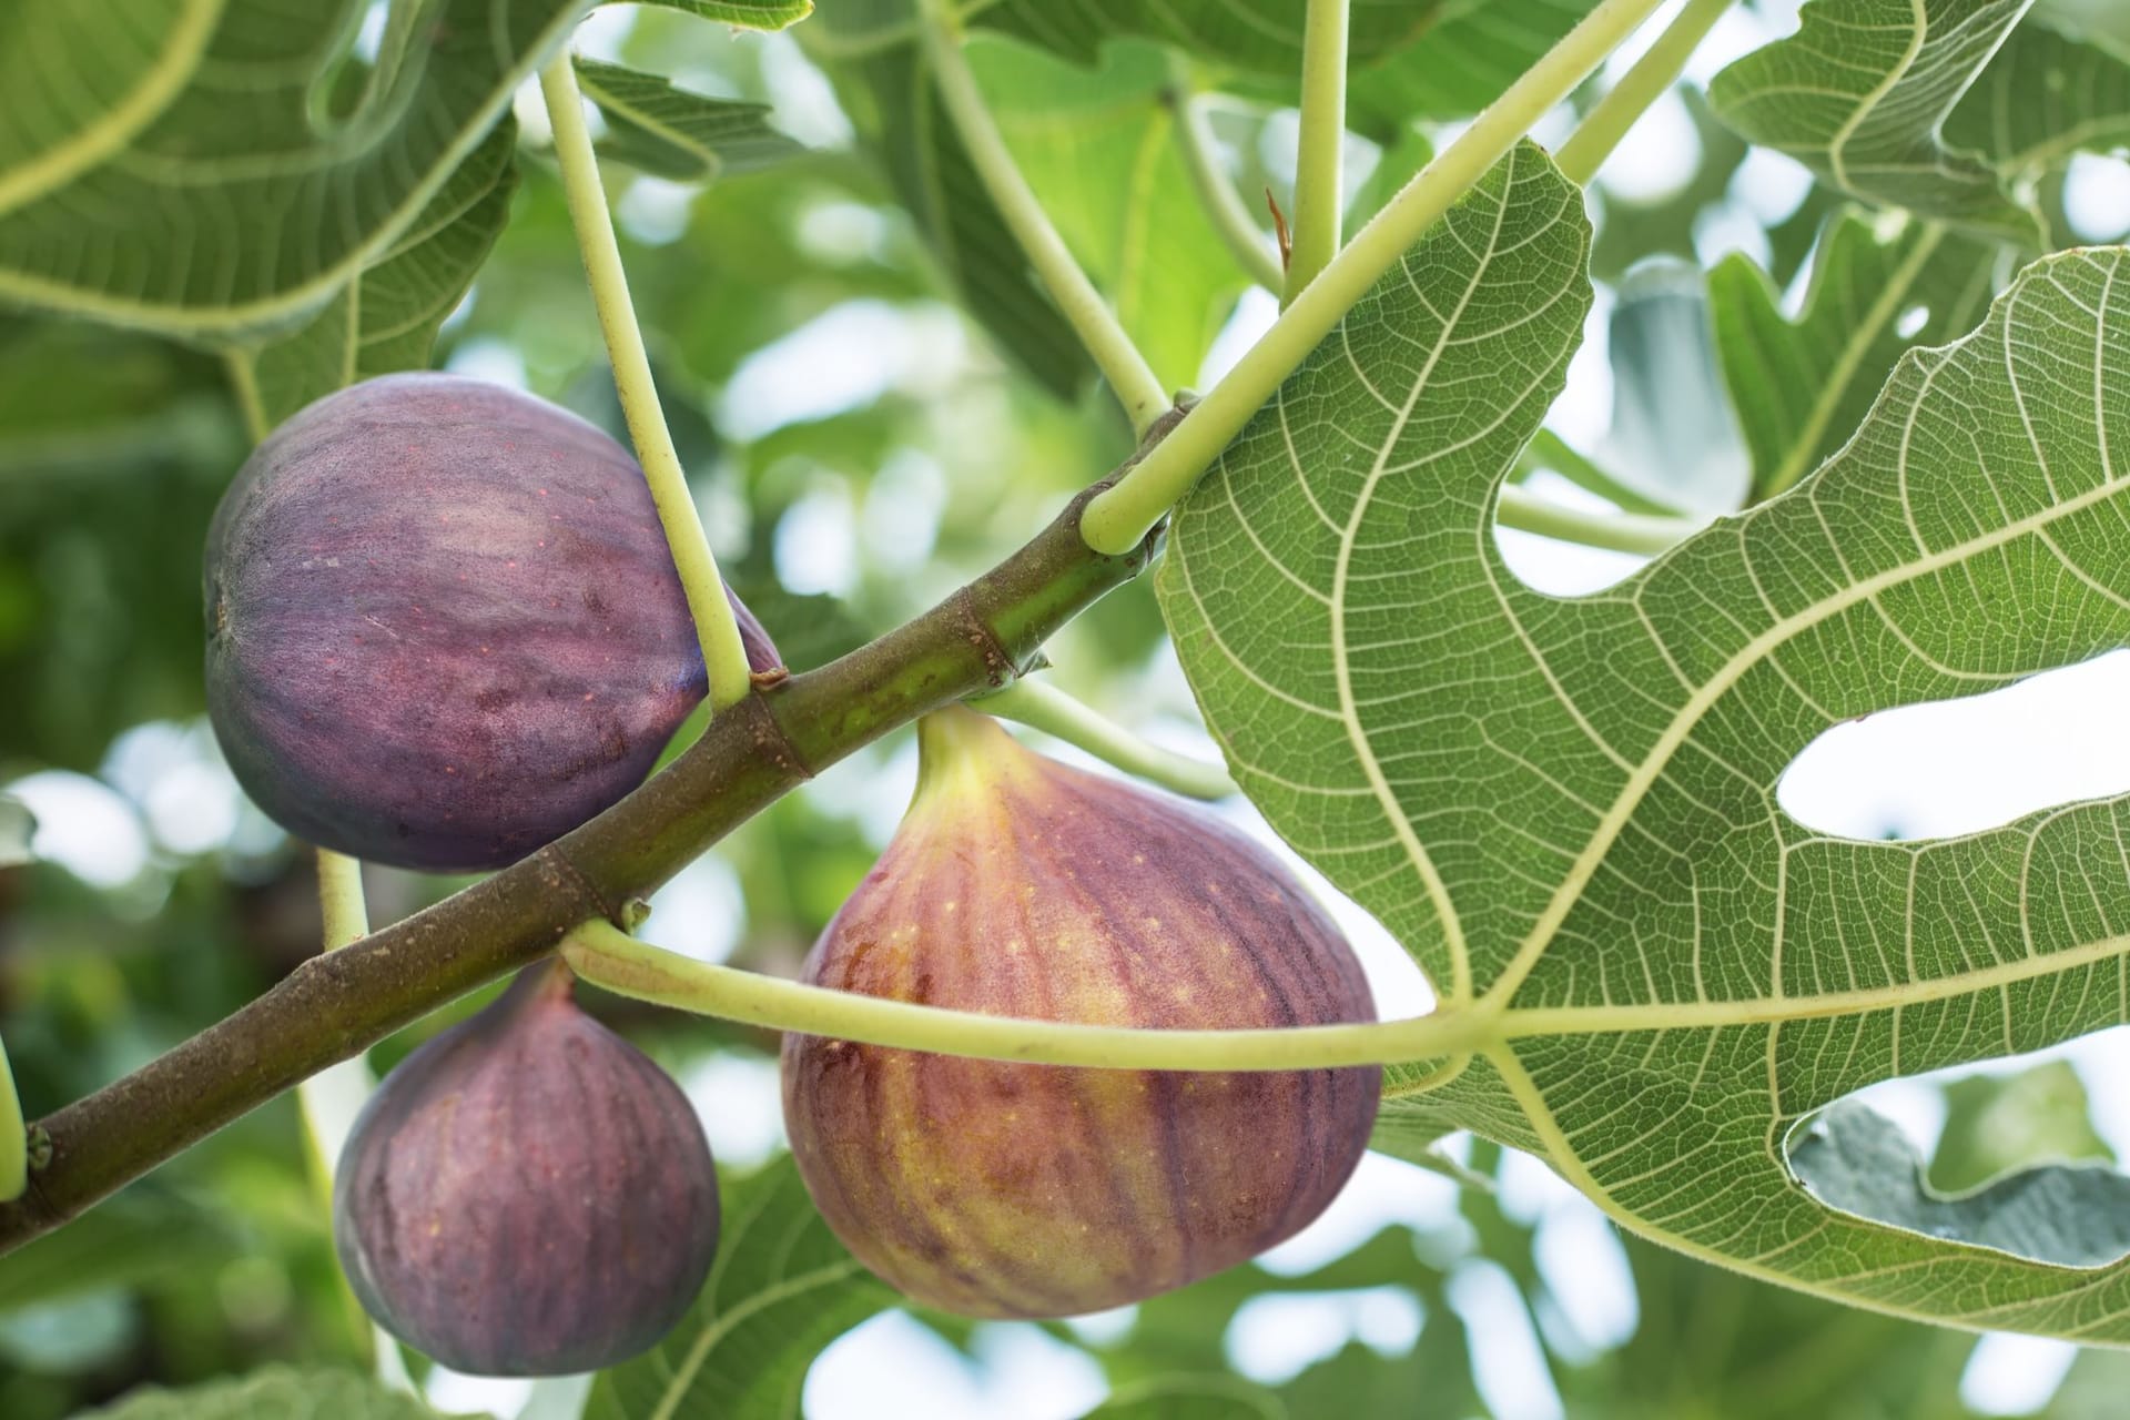
[[[599,1373],[586,1420],[790,1420],[814,1356],[890,1305],[777,1158],[726,1179],[703,1297],[656,1348]]]

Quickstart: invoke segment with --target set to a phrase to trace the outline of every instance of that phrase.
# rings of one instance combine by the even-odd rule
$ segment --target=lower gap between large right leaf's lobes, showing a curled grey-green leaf
[[[2130,1107],[2104,1086],[2130,1028],[1857,1090],[1791,1130],[1796,1179],[1832,1209],[2058,1267],[2130,1256]]]

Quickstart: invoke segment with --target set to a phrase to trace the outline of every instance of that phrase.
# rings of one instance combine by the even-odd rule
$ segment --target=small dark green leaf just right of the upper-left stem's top
[[[577,60],[577,81],[607,119],[603,151],[675,183],[756,172],[805,151],[769,126],[767,104],[690,94],[596,60]]]

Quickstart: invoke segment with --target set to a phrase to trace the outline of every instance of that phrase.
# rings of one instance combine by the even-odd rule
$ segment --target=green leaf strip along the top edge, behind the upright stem
[[[1442,0],[1350,0],[1346,53],[1367,64],[1412,40]],[[1301,21],[1295,0],[995,0],[976,6],[980,26],[1093,64],[1112,38],[1150,38],[1214,64],[1257,75],[1301,70]]]

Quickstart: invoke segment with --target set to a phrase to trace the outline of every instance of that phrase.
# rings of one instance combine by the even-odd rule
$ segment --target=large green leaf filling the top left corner
[[[192,339],[298,324],[383,260],[588,0],[0,9],[0,298]]]

